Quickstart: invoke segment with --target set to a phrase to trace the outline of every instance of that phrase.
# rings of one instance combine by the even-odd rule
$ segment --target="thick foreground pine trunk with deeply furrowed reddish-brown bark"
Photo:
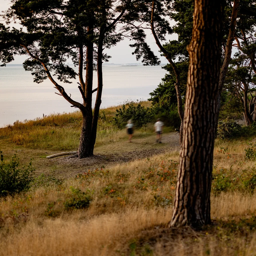
[[[222,2],[195,0],[183,140],[170,226],[210,223]]]

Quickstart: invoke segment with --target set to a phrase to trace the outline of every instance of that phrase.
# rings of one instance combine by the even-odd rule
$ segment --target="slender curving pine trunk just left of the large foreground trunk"
[[[181,97],[181,93],[180,93],[180,76],[179,76],[179,71],[175,65],[175,63],[172,60],[172,57],[169,55],[169,53],[165,50],[165,48],[162,46],[161,42],[159,41],[157,34],[155,32],[155,28],[154,28],[154,11],[155,11],[155,1],[152,1],[152,9],[151,9],[151,31],[152,34],[155,38],[156,41],[156,45],[158,46],[158,48],[163,52],[164,57],[169,61],[170,65],[173,68],[175,77],[176,77],[176,83],[174,84],[175,89],[176,89],[176,94],[177,94],[177,103],[178,103],[178,113],[179,113],[179,117],[181,120],[180,123],[180,132],[179,132],[179,142],[180,145],[182,143],[182,137],[183,137],[183,119],[184,119],[184,111],[183,111],[183,104],[182,104],[182,97]]]

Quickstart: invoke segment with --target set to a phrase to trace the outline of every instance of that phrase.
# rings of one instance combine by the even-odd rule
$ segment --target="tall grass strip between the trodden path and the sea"
[[[140,102],[143,106],[150,106],[151,102]],[[98,131],[95,146],[124,140],[125,131],[120,131],[113,125],[116,109],[113,106],[101,109],[98,121]],[[15,122],[13,125],[0,128],[0,139],[7,138],[16,145],[27,148],[51,150],[76,150],[79,145],[81,132],[81,112],[51,114],[44,118]],[[140,132],[148,134],[151,129]]]

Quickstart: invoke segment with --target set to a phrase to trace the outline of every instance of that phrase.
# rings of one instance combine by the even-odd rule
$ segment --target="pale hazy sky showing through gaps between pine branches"
[[[0,0],[0,10],[6,10],[10,6],[10,0]],[[18,24],[11,24],[11,26],[17,27]],[[151,49],[154,53],[159,56],[162,63],[167,63],[164,57],[160,56],[158,52],[158,47],[155,44],[155,40],[153,35],[150,33],[150,30],[147,32],[147,43],[150,45]],[[167,39],[173,40],[177,39],[177,35],[168,36]],[[119,42],[116,46],[112,47],[111,49],[104,50],[105,53],[112,56],[109,60],[110,63],[136,63],[136,58],[132,55],[133,48],[129,47],[132,41],[129,39],[124,39],[123,41]],[[21,64],[26,58],[24,56],[16,56],[15,60],[12,62],[13,64]],[[140,62],[140,61],[139,61]]]

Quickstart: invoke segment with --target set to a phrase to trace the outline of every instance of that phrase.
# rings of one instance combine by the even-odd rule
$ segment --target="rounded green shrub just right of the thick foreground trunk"
[[[218,123],[217,137],[220,139],[229,139],[242,133],[242,126],[234,120],[226,118]]]

